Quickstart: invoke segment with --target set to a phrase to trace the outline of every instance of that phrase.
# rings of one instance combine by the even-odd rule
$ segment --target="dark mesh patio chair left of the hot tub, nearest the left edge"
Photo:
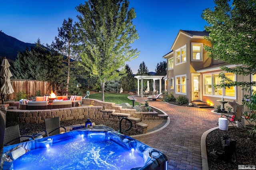
[[[21,143],[22,142],[20,139],[21,137],[28,137],[28,139],[32,138],[34,140],[33,136],[29,136],[29,135],[20,136],[19,125],[6,127],[4,132],[4,146]]]

